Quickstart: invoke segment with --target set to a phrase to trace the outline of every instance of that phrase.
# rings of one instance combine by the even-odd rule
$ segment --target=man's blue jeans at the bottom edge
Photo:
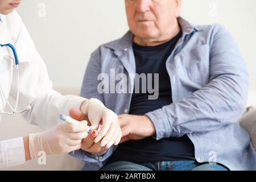
[[[101,171],[228,171],[220,164],[200,164],[194,160],[163,161],[146,164],[136,164],[118,161],[106,164]]]

